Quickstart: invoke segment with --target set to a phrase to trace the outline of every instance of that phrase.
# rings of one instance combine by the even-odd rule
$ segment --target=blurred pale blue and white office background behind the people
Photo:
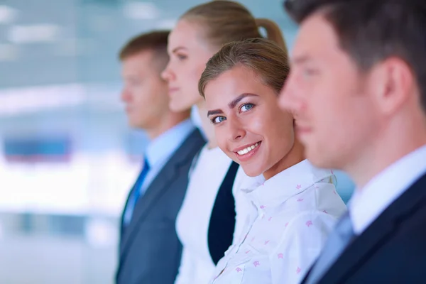
[[[144,133],[126,126],[117,53],[197,0],[0,0],[0,283],[113,283],[118,217]],[[282,0],[241,0],[283,29]],[[351,181],[338,173],[345,200]]]

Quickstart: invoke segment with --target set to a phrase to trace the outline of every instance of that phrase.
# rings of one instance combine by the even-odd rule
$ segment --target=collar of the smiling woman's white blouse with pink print
[[[241,190],[246,192],[256,207],[263,209],[283,204],[316,182],[330,182],[332,176],[332,170],[315,168],[308,160],[302,160],[269,180],[265,180],[263,175],[247,177],[241,184]]]

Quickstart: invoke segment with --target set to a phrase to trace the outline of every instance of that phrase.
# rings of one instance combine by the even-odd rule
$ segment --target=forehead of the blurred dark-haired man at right
[[[337,53],[342,53],[337,35],[320,13],[315,13],[301,23],[293,48],[293,60],[305,57],[327,60]]]

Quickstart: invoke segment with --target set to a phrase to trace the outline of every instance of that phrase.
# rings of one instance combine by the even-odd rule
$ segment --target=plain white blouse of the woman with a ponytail
[[[210,215],[217,192],[231,165],[231,159],[219,147],[202,148],[190,172],[190,181],[182,207],[176,219],[176,231],[182,243],[182,258],[175,284],[207,284],[214,273],[214,263],[209,253],[207,241]],[[239,185],[244,171],[238,170],[234,180],[236,195],[241,196]],[[235,191],[233,190],[233,193]],[[236,212],[241,197],[236,200]],[[242,205],[241,205],[242,206]],[[236,220],[234,236],[240,234],[244,222]]]

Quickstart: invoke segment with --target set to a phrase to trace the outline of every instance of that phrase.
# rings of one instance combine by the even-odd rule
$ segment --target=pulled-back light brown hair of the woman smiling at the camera
[[[275,90],[276,94],[283,88],[290,72],[287,53],[271,40],[251,38],[228,43],[209,59],[202,72],[198,82],[202,97],[205,98],[204,89],[210,81],[236,65],[252,70],[261,78],[263,84]]]

